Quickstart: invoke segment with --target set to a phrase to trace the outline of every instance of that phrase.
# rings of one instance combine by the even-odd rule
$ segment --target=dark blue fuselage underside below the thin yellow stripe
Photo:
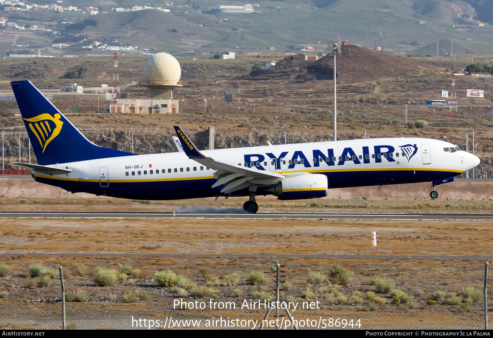
[[[459,173],[453,171],[360,171],[360,172],[317,172],[325,174],[328,178],[329,188],[343,188],[354,186],[368,186],[379,184],[407,184],[419,182],[431,182],[444,178],[457,176]],[[175,181],[150,181],[150,182],[112,182],[111,177],[109,186],[101,187],[99,182],[81,182],[67,180],[63,177],[52,178],[36,174],[36,181],[40,183],[59,186],[69,191],[87,192],[91,194],[129,198],[129,199],[147,199],[147,200],[175,200],[187,198],[212,197],[216,195],[226,196],[220,193],[223,185],[211,188],[216,182],[213,178],[198,180],[180,180]],[[258,195],[266,194],[262,188],[257,189]],[[267,193],[271,194],[271,193]],[[235,195],[248,195],[247,190],[235,192]],[[308,197],[309,198],[309,197]]]

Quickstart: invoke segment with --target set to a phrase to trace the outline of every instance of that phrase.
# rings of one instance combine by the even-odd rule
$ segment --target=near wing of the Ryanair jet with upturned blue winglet
[[[225,184],[226,186],[221,192],[232,193],[252,185],[274,185],[284,178],[284,175],[279,173],[242,167],[237,164],[226,163],[206,156],[197,149],[179,126],[175,125],[174,127],[181,147],[188,158],[216,170],[214,178],[217,182],[213,184],[212,187]]]

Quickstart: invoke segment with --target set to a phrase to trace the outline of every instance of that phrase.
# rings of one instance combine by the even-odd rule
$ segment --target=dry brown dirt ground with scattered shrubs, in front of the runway
[[[201,325],[212,317],[221,316],[260,322],[265,309],[242,308],[242,305],[245,300],[258,302],[257,298],[273,297],[275,273],[271,272],[271,266],[277,262],[276,257],[282,265],[282,298],[300,305],[318,302],[319,308],[292,311],[295,320],[341,318],[348,322],[353,319],[355,323],[360,319],[361,328],[481,328],[482,301],[473,302],[470,308],[462,306],[462,309],[451,304],[450,299],[463,292],[465,287],[481,292],[484,260],[374,259],[364,258],[364,255],[487,255],[491,253],[493,222],[23,218],[1,219],[0,225],[0,252],[18,254],[0,257],[0,264],[13,268],[7,277],[0,277],[0,296],[3,297],[0,299],[0,317],[5,318],[0,321],[0,327],[3,328],[25,327],[29,321],[40,323],[41,327],[50,327],[49,323],[55,323],[55,327],[60,325],[59,277],[54,277],[50,286],[36,287],[35,278],[28,273],[29,266],[35,263],[50,269],[64,266],[67,292],[85,293],[82,302],[67,303],[69,324],[75,323],[79,329],[131,328],[132,316],[163,321],[171,316],[174,320],[200,319]],[[371,231],[377,232],[376,248],[371,246]],[[81,256],[25,255],[34,252],[81,253]],[[87,257],[84,253],[101,253],[102,256]],[[173,253],[176,257],[105,256],[111,253]],[[244,257],[191,258],[181,257],[182,253],[239,253]],[[267,257],[249,256],[259,253]],[[350,253],[362,257],[283,257],[283,254],[293,253]],[[329,278],[329,270],[337,263],[353,273],[351,282],[343,284],[337,277]],[[88,268],[82,276],[76,273],[80,264]],[[112,286],[96,285],[94,274],[98,268],[118,270],[121,264],[141,269],[141,275],[131,274]],[[209,271],[204,273],[204,268]],[[189,278],[189,282],[197,286],[206,286],[209,280],[217,302],[211,301],[210,296],[195,296],[193,285],[181,290],[158,286],[154,274],[167,270]],[[267,284],[246,282],[248,274],[256,271],[268,276]],[[320,284],[313,281],[309,284],[307,277],[311,272],[326,278]],[[239,273],[238,284],[225,286],[227,277],[234,273]],[[391,279],[392,288],[412,296],[413,301],[394,303],[390,292],[377,292],[386,304],[370,310],[371,294],[366,292],[377,291],[374,276]],[[428,300],[437,290],[443,291],[444,297],[435,305],[428,305],[433,304]],[[361,302],[354,297],[357,291],[362,294]],[[129,294],[146,292],[149,297],[146,300],[125,301],[124,297],[128,298]],[[174,301],[180,299],[204,302],[207,307],[174,309]],[[236,309],[210,308],[210,304],[219,306],[221,302],[234,302]],[[270,319],[275,319],[272,314]]]

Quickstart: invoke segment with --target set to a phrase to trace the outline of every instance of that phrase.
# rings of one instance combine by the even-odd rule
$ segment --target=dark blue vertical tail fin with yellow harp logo
[[[13,81],[10,84],[38,164],[134,155],[89,141],[31,81]]]

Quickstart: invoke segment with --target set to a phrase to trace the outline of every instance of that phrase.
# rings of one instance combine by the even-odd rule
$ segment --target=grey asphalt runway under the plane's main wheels
[[[148,212],[54,212],[0,211],[0,218],[230,218],[230,219],[493,219],[493,214],[339,214],[339,213],[148,213]]]

